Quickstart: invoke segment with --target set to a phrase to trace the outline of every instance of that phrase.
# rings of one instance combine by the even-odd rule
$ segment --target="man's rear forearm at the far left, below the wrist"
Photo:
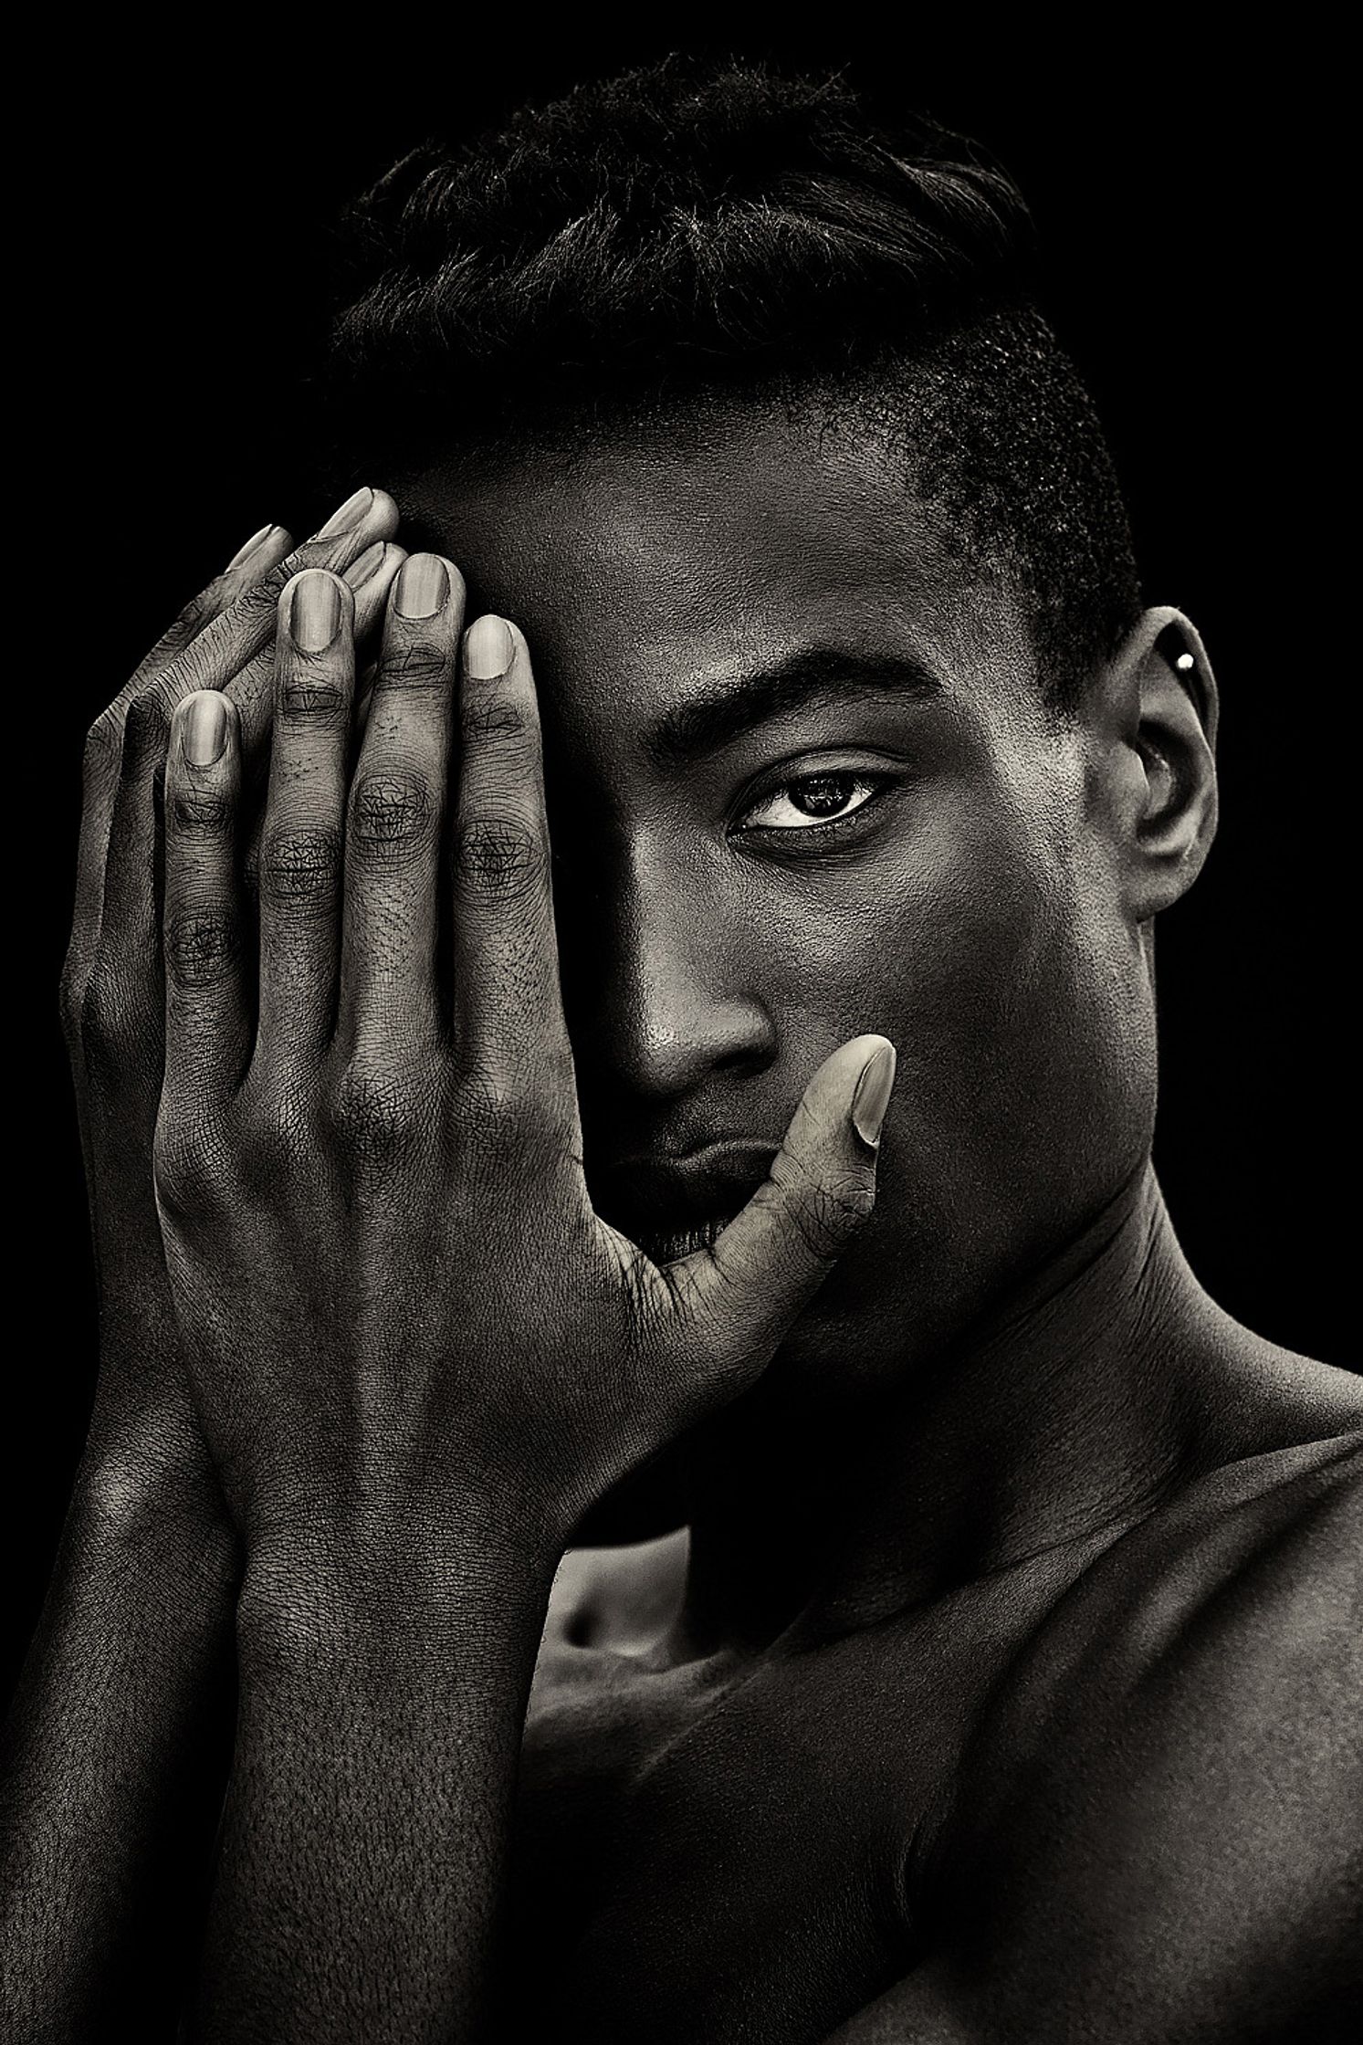
[[[176,1413],[96,1429],[6,1732],[14,2037],[174,2027],[229,1753],[235,1542]]]

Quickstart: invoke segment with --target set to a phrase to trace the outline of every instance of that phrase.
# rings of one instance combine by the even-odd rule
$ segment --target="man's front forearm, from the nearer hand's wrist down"
[[[558,1550],[470,1517],[253,1560],[198,2041],[474,2045]]]

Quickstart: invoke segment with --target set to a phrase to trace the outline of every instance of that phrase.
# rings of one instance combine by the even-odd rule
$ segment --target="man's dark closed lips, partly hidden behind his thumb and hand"
[[[680,1155],[633,1155],[593,1168],[586,1184],[603,1221],[654,1264],[711,1247],[766,1178],[774,1143],[723,1139]]]

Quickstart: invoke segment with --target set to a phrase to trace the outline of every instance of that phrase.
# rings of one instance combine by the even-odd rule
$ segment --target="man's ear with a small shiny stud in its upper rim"
[[[1091,800],[1146,922],[1191,888],[1216,836],[1216,677],[1183,611],[1148,609],[1093,683]]]

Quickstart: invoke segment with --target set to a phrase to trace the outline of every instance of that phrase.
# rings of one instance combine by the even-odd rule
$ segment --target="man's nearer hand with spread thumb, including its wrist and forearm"
[[[595,1217],[529,658],[482,620],[456,693],[462,595],[454,564],[405,562],[347,793],[351,599],[325,573],[284,591],[253,984],[237,712],[192,695],[170,736],[155,1190],[247,1548],[206,2037],[262,2010],[274,2037],[488,2023],[517,1730],[572,1526],[756,1378],[875,1198],[885,1090],[871,1112],[862,1082],[893,1053],[854,1037],[723,1243],[664,1272]]]

